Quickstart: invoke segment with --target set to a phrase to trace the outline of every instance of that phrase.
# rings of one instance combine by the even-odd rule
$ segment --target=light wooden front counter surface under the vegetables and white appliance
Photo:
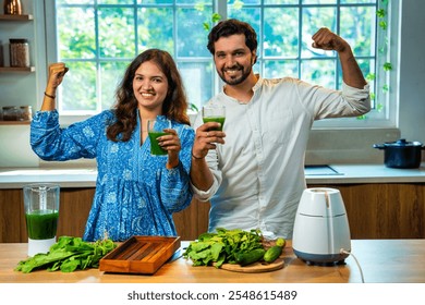
[[[182,247],[184,246],[182,242]],[[424,283],[425,240],[352,240],[353,255],[345,265],[309,266],[298,258],[288,241],[282,269],[263,273],[241,273],[214,267],[194,267],[180,257],[166,263],[155,274],[106,273],[98,269],[62,273],[38,270],[14,271],[26,258],[27,244],[0,244],[0,283]],[[357,266],[357,263],[360,268]]]

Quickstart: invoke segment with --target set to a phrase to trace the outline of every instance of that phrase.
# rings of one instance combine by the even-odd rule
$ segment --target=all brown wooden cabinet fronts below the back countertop
[[[312,184],[333,187],[344,200],[352,239],[425,239],[425,184]],[[61,188],[58,235],[82,236],[94,187]],[[26,242],[22,190],[0,190],[0,243]],[[208,203],[194,199],[173,216],[182,240],[195,240],[208,229]]]

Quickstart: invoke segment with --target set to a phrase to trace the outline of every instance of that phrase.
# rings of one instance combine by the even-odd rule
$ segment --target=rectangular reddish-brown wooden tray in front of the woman
[[[100,259],[99,270],[153,274],[179,247],[179,236],[132,236]]]

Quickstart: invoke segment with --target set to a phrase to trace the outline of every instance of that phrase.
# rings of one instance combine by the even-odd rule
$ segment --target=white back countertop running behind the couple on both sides
[[[424,183],[425,163],[418,169],[390,169],[384,164],[330,164],[306,168],[307,184]],[[61,187],[95,187],[94,168],[0,168],[0,188],[54,182]]]

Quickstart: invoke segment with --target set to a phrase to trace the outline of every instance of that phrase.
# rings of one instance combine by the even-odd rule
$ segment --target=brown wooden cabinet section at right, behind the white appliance
[[[352,239],[425,239],[425,184],[308,185],[341,192]]]

